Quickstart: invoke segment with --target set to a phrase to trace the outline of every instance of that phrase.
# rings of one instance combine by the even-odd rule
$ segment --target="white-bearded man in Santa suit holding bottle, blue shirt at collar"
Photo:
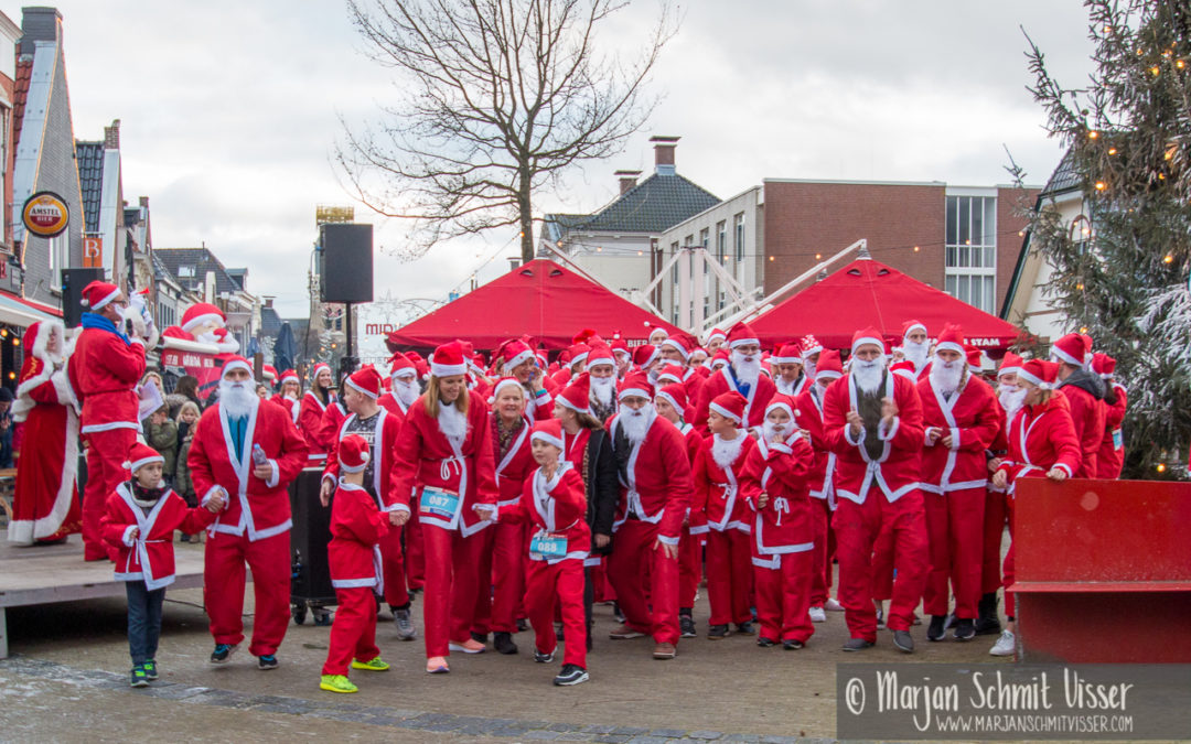
[[[187,464],[205,505],[219,493],[224,511],[207,534],[204,596],[223,664],[244,639],[244,564],[252,571],[255,607],[248,650],[260,669],[278,667],[289,625],[289,481],[306,464],[306,442],[285,408],[262,405],[248,360],[223,365],[219,400],[195,424]]]

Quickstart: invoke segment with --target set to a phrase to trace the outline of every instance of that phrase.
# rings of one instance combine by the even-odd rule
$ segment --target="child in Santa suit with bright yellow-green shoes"
[[[388,670],[376,648],[376,594],[385,584],[378,543],[388,533],[395,513],[379,508],[376,498],[364,488],[373,450],[360,434],[347,434],[339,439],[335,457],[338,484],[331,502],[326,561],[339,608],[318,684],[331,693],[358,692],[348,679],[349,669]]]

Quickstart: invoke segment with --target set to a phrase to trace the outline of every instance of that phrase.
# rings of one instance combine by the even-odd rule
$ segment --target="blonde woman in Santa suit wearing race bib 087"
[[[484,540],[499,488],[484,398],[467,389],[462,344],[435,350],[426,393],[398,436],[391,496],[405,524],[418,509],[425,546],[426,671],[449,671],[450,651],[479,654],[472,639]],[[459,601],[468,598],[469,601]]]

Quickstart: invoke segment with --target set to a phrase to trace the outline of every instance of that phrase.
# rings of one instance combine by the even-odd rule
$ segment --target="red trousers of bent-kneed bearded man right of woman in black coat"
[[[656,543],[657,525],[625,520],[616,532],[607,575],[628,625],[655,643],[678,645],[678,558],[667,557]]]

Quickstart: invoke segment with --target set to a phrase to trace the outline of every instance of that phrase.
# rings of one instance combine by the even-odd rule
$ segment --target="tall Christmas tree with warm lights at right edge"
[[[1045,207],[1030,245],[1070,331],[1117,360],[1129,390],[1122,477],[1170,477],[1191,431],[1191,4],[1087,0],[1095,70],[1066,88],[1030,42],[1031,93],[1067,146],[1087,221]]]

